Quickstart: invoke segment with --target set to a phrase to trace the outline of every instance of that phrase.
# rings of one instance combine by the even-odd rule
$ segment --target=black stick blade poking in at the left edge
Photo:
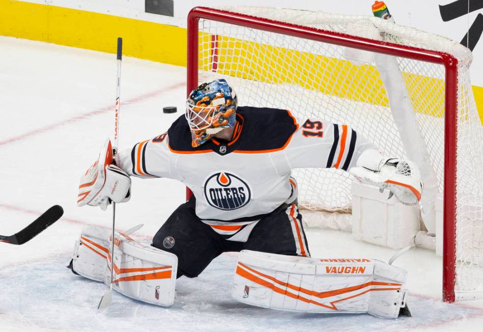
[[[63,214],[64,209],[62,206],[54,205],[21,231],[10,236],[0,235],[0,242],[6,242],[11,245],[23,245],[25,242],[30,241],[54,222],[58,221]]]

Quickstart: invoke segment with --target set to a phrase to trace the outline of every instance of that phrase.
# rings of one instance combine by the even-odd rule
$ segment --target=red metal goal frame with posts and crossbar
[[[413,59],[419,62],[433,63],[444,66],[444,242],[443,242],[443,299],[448,302],[455,300],[454,285],[456,280],[456,207],[457,207],[457,128],[458,128],[458,59],[441,51],[417,48],[413,46],[391,43],[357,37],[345,33],[324,30],[316,27],[303,26],[269,18],[255,17],[231,11],[196,7],[188,14],[187,22],[187,93],[196,87],[198,70],[202,67],[198,48],[202,32],[198,27],[200,20],[223,22],[233,26],[246,27],[297,39],[312,40],[331,45],[350,47],[353,49],[382,53],[400,58]],[[213,44],[216,37],[212,39]],[[212,58],[218,66],[218,54],[212,51]],[[216,70],[216,68],[214,68]],[[237,90],[238,92],[238,90]],[[253,105],[266,106],[266,105]],[[187,189],[187,197],[190,192]]]

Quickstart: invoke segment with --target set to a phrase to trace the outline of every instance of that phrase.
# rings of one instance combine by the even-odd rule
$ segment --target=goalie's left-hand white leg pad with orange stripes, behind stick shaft
[[[85,226],[76,242],[72,269],[78,275],[110,284],[109,229]],[[158,306],[171,306],[175,298],[176,255],[116,233],[113,289],[128,297]]]

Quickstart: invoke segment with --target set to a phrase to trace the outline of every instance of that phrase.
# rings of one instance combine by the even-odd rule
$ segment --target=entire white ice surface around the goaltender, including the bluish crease
[[[98,313],[108,287],[65,265],[84,225],[110,227],[110,211],[78,208],[75,201],[80,175],[113,130],[116,57],[6,37],[0,50],[0,233],[17,232],[51,205],[65,210],[29,243],[0,243],[0,331],[481,330],[483,301],[442,303],[441,259],[422,249],[394,263],[408,270],[412,318],[288,313],[237,303],[230,297],[234,253],[196,279],[180,279],[171,308],[114,293],[110,308]],[[186,70],[129,57],[122,66],[120,148],[130,148],[182,115],[164,114],[162,107],[183,110]],[[144,223],[137,233],[149,240],[183,200],[184,186],[174,180],[135,178],[131,201],[117,205],[117,228]],[[306,231],[314,257],[387,261],[394,253],[348,233]]]

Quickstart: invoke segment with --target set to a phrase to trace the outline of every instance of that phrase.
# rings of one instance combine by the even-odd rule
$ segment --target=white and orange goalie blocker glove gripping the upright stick
[[[105,210],[111,201],[122,203],[130,199],[131,178],[113,163],[112,145],[107,139],[99,159],[80,178],[78,206],[88,204]]]

